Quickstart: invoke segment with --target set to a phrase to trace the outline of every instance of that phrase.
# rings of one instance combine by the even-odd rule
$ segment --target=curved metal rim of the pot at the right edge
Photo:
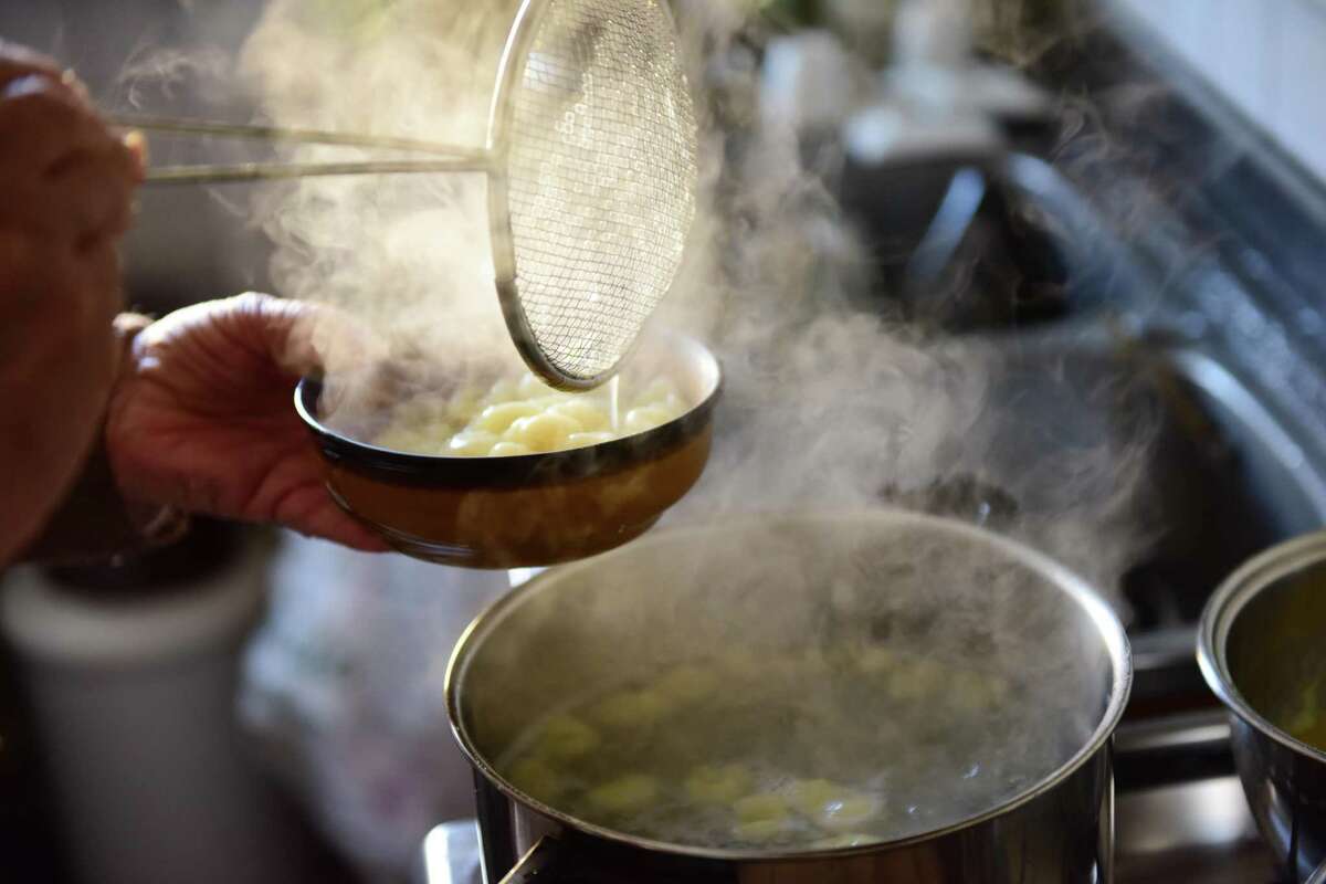
[[[1235,685],[1227,655],[1229,632],[1244,608],[1268,587],[1309,565],[1326,563],[1326,530],[1303,534],[1257,554],[1225,578],[1201,612],[1197,665],[1207,687],[1225,708],[1262,736],[1301,755],[1326,763],[1326,751],[1296,740],[1253,709]]]

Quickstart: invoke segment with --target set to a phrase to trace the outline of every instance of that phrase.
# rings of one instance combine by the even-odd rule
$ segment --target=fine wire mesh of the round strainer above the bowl
[[[696,126],[658,0],[553,0],[512,101],[516,286],[562,375],[610,370],[672,285]]]

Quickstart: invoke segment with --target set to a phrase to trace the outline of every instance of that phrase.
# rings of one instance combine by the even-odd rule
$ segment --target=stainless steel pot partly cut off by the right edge
[[[1197,661],[1229,708],[1238,778],[1290,880],[1326,860],[1326,753],[1273,720],[1326,673],[1326,531],[1272,547],[1207,603]]]

